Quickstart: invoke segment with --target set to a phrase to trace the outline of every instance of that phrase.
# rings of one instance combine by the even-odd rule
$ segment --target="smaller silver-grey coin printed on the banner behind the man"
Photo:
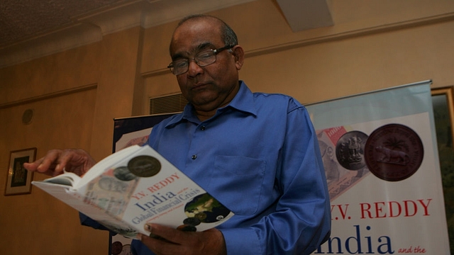
[[[365,165],[364,147],[367,135],[360,131],[346,132],[336,143],[336,159],[343,168],[360,170]]]

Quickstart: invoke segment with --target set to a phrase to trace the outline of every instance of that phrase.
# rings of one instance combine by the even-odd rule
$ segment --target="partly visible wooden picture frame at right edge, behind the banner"
[[[431,94],[450,251],[454,254],[454,87],[432,89]]]

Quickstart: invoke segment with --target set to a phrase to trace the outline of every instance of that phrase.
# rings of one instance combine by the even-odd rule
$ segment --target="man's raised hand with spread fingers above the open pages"
[[[96,164],[96,161],[83,149],[52,149],[44,157],[23,166],[28,171],[38,171],[49,176],[57,176],[70,171],[82,176]]]

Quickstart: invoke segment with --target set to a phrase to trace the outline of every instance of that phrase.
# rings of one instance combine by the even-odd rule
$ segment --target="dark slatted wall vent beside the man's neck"
[[[187,100],[183,94],[150,98],[150,114],[179,113],[186,104]]]

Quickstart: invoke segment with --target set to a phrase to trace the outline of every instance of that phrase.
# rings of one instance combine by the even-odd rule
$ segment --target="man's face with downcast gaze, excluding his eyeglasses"
[[[224,47],[218,21],[197,18],[179,26],[172,38],[170,55],[172,61],[192,60],[194,55],[204,50]],[[237,46],[239,47],[239,46]],[[232,50],[236,48],[233,47]],[[238,70],[243,59],[228,50],[216,55],[216,62],[206,67],[199,67],[194,61],[189,62],[188,72],[177,75],[179,89],[196,111],[213,112],[226,106],[238,91]]]

